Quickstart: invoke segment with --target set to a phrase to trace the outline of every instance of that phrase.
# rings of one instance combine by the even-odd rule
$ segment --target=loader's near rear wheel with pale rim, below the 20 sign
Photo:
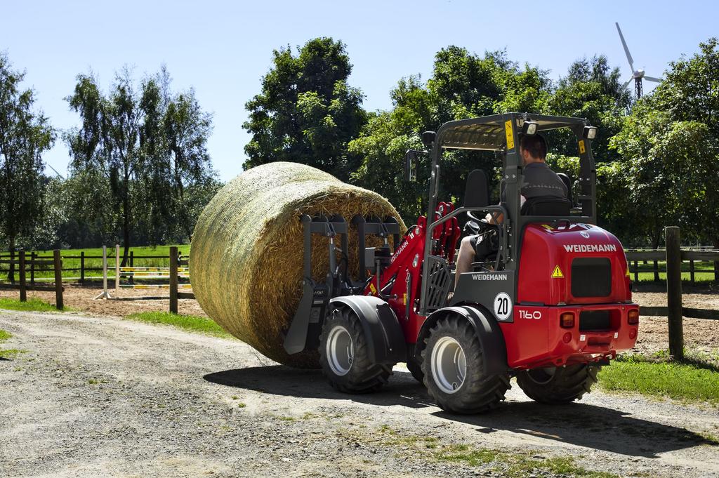
[[[508,374],[485,374],[475,328],[457,316],[441,318],[431,328],[422,351],[422,372],[437,405],[454,413],[493,410],[510,388]]]

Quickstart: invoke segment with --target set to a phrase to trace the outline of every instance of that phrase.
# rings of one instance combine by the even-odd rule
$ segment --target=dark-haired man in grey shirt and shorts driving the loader
[[[567,186],[564,181],[554,173],[546,164],[546,140],[540,134],[523,136],[519,144],[519,154],[523,163],[523,184],[521,186],[521,203],[529,198],[538,196],[567,197]],[[504,190],[501,201],[505,201]],[[500,224],[504,220],[500,214],[497,217],[487,214],[485,221],[489,224]],[[459,275],[462,272],[472,271],[472,262],[483,261],[487,257],[486,244],[482,244],[480,236],[475,234],[466,236],[459,244],[457,257],[457,270],[454,272],[454,287],[457,288]]]

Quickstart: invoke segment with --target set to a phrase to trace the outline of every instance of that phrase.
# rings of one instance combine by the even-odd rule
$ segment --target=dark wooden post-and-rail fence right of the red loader
[[[642,316],[667,316],[669,318],[669,354],[676,359],[682,359],[684,357],[684,317],[719,320],[719,311],[689,308],[682,305],[682,262],[690,263],[690,273],[694,269],[694,261],[713,262],[716,277],[719,251],[682,250],[679,228],[676,226],[665,227],[664,236],[667,248],[663,251],[627,251],[626,256],[628,262],[634,261],[635,264],[640,260],[651,260],[654,262],[655,268],[659,261],[666,261],[667,307],[643,307],[640,304],[639,313]],[[636,272],[634,274],[634,277],[637,277]],[[692,282],[693,277],[692,274]]]

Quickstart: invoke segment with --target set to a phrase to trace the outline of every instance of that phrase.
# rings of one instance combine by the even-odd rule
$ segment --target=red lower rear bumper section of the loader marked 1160
[[[516,305],[513,323],[500,323],[511,369],[560,366],[613,359],[618,351],[636,344],[638,323],[628,323],[628,312],[638,310],[631,303],[534,307]],[[580,323],[582,312],[606,311],[610,320],[600,330]],[[560,324],[562,313],[574,313],[574,326]],[[590,324],[596,326],[596,324]]]

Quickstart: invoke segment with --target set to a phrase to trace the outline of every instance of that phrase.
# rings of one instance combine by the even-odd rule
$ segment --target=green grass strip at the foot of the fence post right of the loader
[[[609,391],[719,407],[719,369],[698,359],[675,362],[664,357],[620,356],[599,373],[599,385]]]

